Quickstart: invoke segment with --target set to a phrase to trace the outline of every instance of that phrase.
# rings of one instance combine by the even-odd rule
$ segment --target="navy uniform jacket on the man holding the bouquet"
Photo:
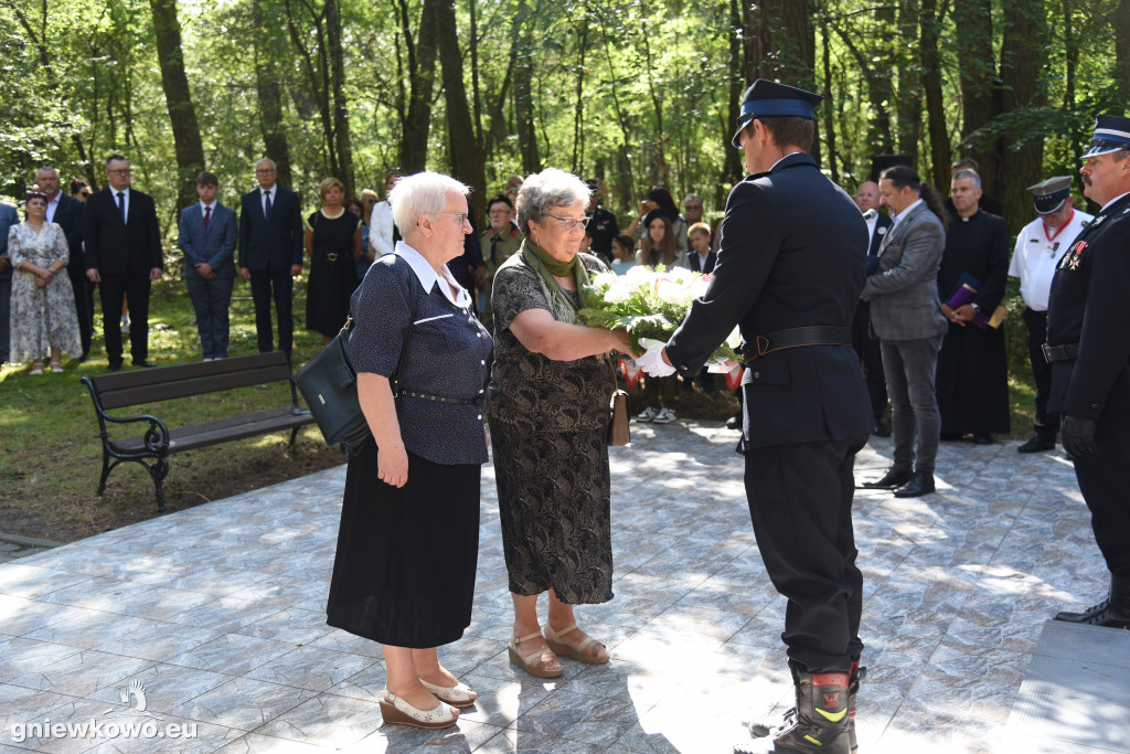
[[[811,156],[781,159],[733,188],[714,277],[667,346],[693,375],[740,324],[747,343],[776,330],[850,328],[863,287],[867,224]],[[803,346],[755,359],[742,378],[745,448],[844,439],[875,428],[851,345]]]

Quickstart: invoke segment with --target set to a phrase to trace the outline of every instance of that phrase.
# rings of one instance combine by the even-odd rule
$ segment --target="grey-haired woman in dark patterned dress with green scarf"
[[[579,253],[589,187],[550,168],[518,194],[521,250],[495,275],[495,363],[489,388],[503,547],[514,600],[511,662],[539,678],[558,657],[608,661],[573,606],[612,598],[608,406],[624,332],[574,323],[579,291],[607,271]],[[539,625],[538,595],[549,592]]]

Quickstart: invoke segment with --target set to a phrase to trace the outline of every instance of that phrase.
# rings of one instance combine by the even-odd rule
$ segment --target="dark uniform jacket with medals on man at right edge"
[[[1055,268],[1048,343],[1079,344],[1074,362],[1052,363],[1048,410],[1096,418],[1130,410],[1130,194],[1076,237]]]

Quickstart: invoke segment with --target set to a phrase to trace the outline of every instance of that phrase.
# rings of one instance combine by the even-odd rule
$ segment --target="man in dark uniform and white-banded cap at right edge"
[[[1067,415],[1063,448],[1075,461],[1111,589],[1094,607],[1055,619],[1130,629],[1130,118],[1099,115],[1083,159],[1083,193],[1103,209],[1052,277],[1048,410]]]

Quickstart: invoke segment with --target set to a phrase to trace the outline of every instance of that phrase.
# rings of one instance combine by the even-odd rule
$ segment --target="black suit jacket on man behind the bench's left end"
[[[87,269],[106,275],[164,268],[157,208],[149,194],[130,189],[125,222],[122,223],[118,198],[107,187],[87,198],[84,218]]]

